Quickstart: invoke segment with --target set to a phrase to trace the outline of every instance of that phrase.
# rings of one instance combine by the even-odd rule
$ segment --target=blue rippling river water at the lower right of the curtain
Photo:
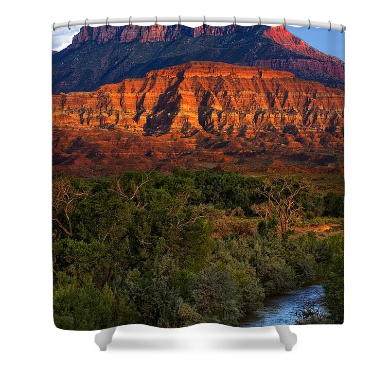
[[[323,285],[310,285],[291,290],[285,295],[265,299],[264,306],[246,316],[240,327],[265,327],[271,325],[296,324],[296,312],[309,304],[310,308],[325,312]]]

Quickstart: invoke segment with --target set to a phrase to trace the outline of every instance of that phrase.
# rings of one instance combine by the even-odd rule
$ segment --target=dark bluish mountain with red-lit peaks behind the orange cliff
[[[344,88],[344,62],[307,45],[283,26],[183,25],[82,27],[53,55],[53,93],[91,91],[190,61],[267,66]]]

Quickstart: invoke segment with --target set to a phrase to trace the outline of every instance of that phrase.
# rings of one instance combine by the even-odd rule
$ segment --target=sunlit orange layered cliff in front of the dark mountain
[[[53,170],[339,169],[343,106],[343,90],[287,71],[190,62],[53,95]]]

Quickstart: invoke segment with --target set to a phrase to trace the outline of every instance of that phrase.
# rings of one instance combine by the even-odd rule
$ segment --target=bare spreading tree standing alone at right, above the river
[[[292,217],[301,212],[302,205],[298,203],[298,196],[307,187],[306,181],[297,181],[290,177],[266,179],[263,188],[257,187],[256,192],[268,200],[270,207],[268,211],[274,212],[277,216],[281,236],[289,229]]]

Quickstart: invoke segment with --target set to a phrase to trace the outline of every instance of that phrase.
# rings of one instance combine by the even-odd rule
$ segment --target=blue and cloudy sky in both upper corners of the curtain
[[[53,31],[52,49],[61,51],[71,44],[73,36],[80,31],[80,26],[73,26],[69,30],[67,27],[58,28]],[[344,61],[344,35],[340,31],[328,31],[326,28],[292,27],[286,28],[294,35],[297,35],[310,46],[323,53],[335,55]]]

